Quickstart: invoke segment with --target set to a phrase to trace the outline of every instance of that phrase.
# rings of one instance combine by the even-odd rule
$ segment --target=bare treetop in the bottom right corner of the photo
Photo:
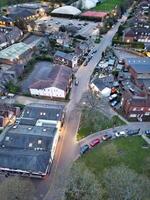
[[[111,167],[103,176],[110,200],[146,200],[150,197],[150,181],[126,166]]]

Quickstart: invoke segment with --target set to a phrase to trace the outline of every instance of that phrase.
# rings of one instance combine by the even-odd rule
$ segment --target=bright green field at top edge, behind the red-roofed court
[[[98,3],[94,10],[110,12],[121,2],[122,0],[104,0],[104,2]]]

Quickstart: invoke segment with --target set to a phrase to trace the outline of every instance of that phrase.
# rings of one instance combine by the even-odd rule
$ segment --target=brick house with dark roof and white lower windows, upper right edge
[[[150,42],[150,27],[132,27],[125,29],[123,41],[127,43]]]

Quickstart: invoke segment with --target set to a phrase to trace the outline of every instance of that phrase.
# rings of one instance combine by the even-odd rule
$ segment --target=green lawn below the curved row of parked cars
[[[144,144],[140,136],[107,141],[83,155],[78,162],[84,162],[96,176],[102,175],[106,168],[124,164],[150,178],[150,148],[142,148]]]

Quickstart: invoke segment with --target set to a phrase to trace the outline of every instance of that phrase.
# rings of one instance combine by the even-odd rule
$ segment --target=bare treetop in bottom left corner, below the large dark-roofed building
[[[35,189],[29,179],[9,177],[0,184],[0,199],[30,200],[35,195]]]

